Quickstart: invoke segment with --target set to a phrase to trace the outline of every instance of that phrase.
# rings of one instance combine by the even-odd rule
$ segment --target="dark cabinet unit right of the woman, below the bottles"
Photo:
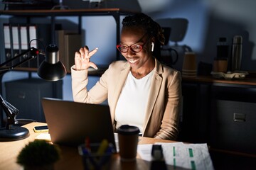
[[[210,149],[256,153],[256,78],[182,81],[183,115],[180,141],[206,142]]]

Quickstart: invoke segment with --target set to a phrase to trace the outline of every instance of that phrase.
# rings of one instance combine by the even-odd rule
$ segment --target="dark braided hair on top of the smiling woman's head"
[[[146,33],[155,38],[157,44],[164,45],[164,30],[159,26],[159,23],[156,23],[144,13],[136,13],[134,16],[126,16],[122,21],[122,25],[123,28],[143,28]]]

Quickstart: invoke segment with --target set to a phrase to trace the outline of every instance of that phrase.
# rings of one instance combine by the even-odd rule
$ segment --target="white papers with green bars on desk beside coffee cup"
[[[174,169],[214,169],[206,144],[155,143],[161,145],[167,165]],[[137,152],[145,161],[151,162],[152,145],[138,145]]]

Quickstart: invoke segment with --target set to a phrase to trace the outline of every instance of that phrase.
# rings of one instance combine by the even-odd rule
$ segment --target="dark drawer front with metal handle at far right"
[[[256,103],[215,100],[210,145],[236,152],[256,153]]]

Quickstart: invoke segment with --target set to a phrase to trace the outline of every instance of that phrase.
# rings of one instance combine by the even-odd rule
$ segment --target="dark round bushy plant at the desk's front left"
[[[35,140],[21,149],[16,162],[24,170],[53,170],[54,163],[60,159],[60,148],[45,140]]]

